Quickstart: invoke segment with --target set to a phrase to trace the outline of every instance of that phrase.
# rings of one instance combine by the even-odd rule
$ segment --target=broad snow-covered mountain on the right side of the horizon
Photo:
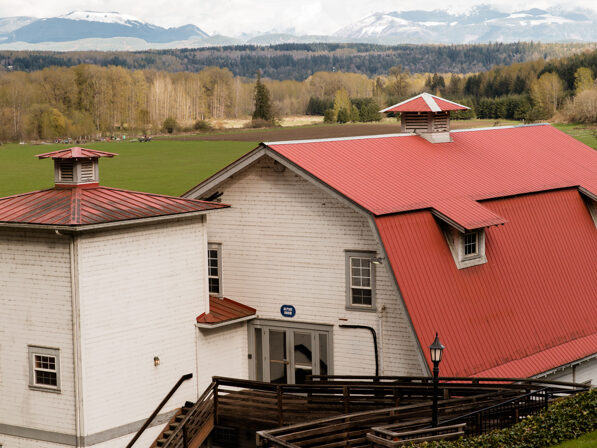
[[[583,10],[536,8],[504,13],[487,5],[458,15],[440,10],[378,12],[334,36],[384,43],[594,41],[597,15]]]

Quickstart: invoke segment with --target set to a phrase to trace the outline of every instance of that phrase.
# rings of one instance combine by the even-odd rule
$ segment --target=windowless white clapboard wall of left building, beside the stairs
[[[200,219],[81,237],[85,435],[147,418],[181,375],[195,373],[206,257]],[[162,412],[196,398],[195,376]]]

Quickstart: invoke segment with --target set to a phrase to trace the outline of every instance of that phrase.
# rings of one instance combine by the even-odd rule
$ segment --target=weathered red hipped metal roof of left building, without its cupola
[[[0,222],[78,226],[225,207],[228,206],[92,184],[0,198]]]

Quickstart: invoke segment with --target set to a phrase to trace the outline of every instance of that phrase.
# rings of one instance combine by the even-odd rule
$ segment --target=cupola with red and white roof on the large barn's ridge
[[[450,112],[469,109],[462,104],[422,93],[380,112],[400,112],[402,132],[420,135],[431,143],[451,142]]]

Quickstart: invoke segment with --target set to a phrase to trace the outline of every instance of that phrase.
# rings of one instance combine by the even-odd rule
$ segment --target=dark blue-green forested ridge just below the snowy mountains
[[[206,40],[220,40],[213,36]],[[105,39],[134,44],[134,38]],[[131,44],[131,45],[132,45]],[[483,44],[483,45],[373,45],[286,43],[219,46],[152,51],[0,51],[0,70],[41,70],[77,64],[117,65],[129,69],[197,72],[205,67],[229,69],[236,76],[254,77],[259,69],[271,79],[304,80],[318,71],[343,71],[367,76],[385,75],[402,65],[413,73],[470,73],[495,65],[510,65],[581,53],[597,44]],[[107,48],[106,48],[107,49]]]

